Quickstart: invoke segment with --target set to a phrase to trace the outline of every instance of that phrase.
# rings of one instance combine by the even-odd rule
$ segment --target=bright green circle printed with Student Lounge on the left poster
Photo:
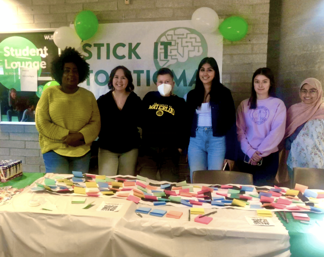
[[[38,49],[24,37],[8,37],[0,43],[0,82],[8,89],[20,91],[19,68],[37,68],[37,76],[41,74],[42,60],[47,49]]]

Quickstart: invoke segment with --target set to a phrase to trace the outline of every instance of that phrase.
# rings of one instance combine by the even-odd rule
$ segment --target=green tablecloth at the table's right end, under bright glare
[[[324,257],[324,225],[320,227],[315,222],[324,224],[323,213],[305,212],[310,218],[309,225],[295,220],[291,212],[286,212],[289,223],[283,221],[278,212],[275,213],[288,230],[291,257]]]

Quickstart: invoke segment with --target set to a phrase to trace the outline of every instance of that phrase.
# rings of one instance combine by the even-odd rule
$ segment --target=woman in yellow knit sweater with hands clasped
[[[90,145],[100,131],[96,98],[78,87],[89,75],[89,65],[74,48],[66,48],[51,65],[60,85],[44,90],[35,113],[46,173],[86,173]]]

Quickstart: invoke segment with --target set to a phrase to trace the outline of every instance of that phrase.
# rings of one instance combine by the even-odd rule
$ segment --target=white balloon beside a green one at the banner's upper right
[[[198,8],[191,16],[193,27],[201,33],[212,33],[219,26],[217,13],[208,7]]]

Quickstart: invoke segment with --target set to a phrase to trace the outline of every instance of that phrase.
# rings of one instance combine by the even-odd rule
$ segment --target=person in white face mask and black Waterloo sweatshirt
[[[187,146],[186,102],[172,93],[174,85],[170,69],[157,71],[158,91],[148,92],[142,101],[143,132],[138,157],[141,176],[170,182],[179,179],[179,157]]]

